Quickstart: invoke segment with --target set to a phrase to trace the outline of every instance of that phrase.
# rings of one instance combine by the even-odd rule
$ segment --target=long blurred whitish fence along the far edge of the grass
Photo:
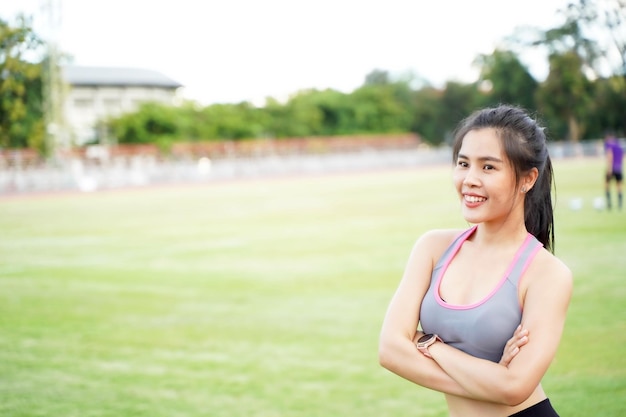
[[[553,159],[600,156],[602,141],[551,144]],[[410,168],[450,163],[443,148],[269,155],[264,157],[159,160],[155,156],[120,157],[106,161],[68,159],[43,165],[0,166],[0,195],[31,192],[97,190],[183,184],[236,178],[306,175],[372,169]]]

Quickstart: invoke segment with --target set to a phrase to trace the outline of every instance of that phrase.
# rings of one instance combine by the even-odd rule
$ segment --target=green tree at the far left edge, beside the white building
[[[30,22],[0,19],[0,147],[43,150],[41,63],[27,61],[42,45]]]

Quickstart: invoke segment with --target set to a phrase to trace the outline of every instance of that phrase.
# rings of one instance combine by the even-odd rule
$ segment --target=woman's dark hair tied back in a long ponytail
[[[465,135],[471,130],[483,128],[496,130],[515,170],[516,184],[532,168],[539,171],[535,185],[525,194],[524,223],[546,249],[554,252],[553,171],[544,128],[519,107],[500,105],[476,111],[457,127],[452,147],[454,162]]]

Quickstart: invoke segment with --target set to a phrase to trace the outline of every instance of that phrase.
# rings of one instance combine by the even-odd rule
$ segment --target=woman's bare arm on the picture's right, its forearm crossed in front
[[[546,373],[561,339],[572,291],[571,272],[560,261],[543,254],[527,271],[522,323],[531,337],[508,367],[467,355],[445,343],[429,348],[433,361],[468,396],[483,401],[517,405],[532,394]],[[549,257],[549,258],[547,258]]]

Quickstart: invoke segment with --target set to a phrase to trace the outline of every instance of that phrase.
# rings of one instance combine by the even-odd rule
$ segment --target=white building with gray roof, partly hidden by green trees
[[[165,75],[138,68],[64,66],[63,100],[69,140],[77,145],[102,138],[98,122],[136,111],[142,103],[175,104],[182,85]],[[105,138],[106,140],[106,138]]]

